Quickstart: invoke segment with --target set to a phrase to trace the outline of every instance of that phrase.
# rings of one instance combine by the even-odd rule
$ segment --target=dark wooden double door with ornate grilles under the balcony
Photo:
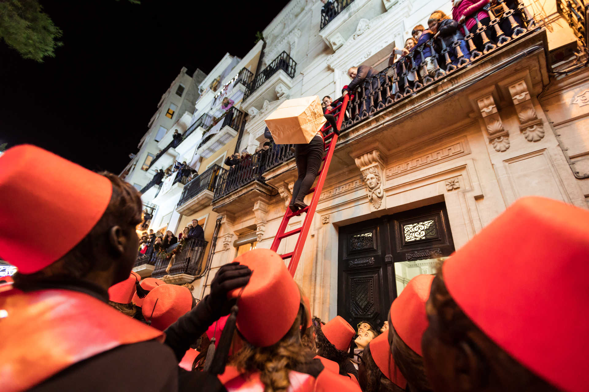
[[[382,326],[411,277],[434,272],[431,259],[452,252],[445,203],[340,227],[337,314],[354,328]]]

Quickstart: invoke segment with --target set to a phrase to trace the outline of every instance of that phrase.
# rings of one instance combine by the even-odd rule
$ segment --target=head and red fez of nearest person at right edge
[[[434,390],[587,391],[588,262],[587,210],[509,206],[432,283],[422,347]]]

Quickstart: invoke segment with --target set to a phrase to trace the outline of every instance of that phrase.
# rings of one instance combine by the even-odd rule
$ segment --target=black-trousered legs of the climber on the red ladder
[[[317,178],[317,172],[319,172],[323,160],[323,139],[321,136],[315,136],[309,144],[296,145],[294,157],[299,178],[297,178],[293,186],[291,204],[303,202]]]

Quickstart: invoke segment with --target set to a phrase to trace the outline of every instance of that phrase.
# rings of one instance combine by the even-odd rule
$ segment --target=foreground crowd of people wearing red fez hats
[[[0,234],[0,254],[18,268],[0,279],[3,391],[589,385],[589,284],[579,273],[589,262],[587,210],[517,200],[436,276],[410,280],[378,331],[366,321],[354,329],[340,316],[312,317],[309,298],[269,249],[221,266],[198,303],[186,287],[141,280],[131,272],[141,222],[133,186],[27,145],[9,149],[0,172],[0,233],[31,227],[39,214],[63,227],[32,240]],[[42,192],[37,177],[47,184]],[[183,234],[201,236],[198,222],[191,225]]]

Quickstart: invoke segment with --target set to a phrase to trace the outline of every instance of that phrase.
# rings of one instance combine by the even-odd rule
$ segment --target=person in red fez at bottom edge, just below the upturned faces
[[[386,335],[372,339],[360,354],[358,376],[364,392],[401,392],[407,381],[391,354]]]

